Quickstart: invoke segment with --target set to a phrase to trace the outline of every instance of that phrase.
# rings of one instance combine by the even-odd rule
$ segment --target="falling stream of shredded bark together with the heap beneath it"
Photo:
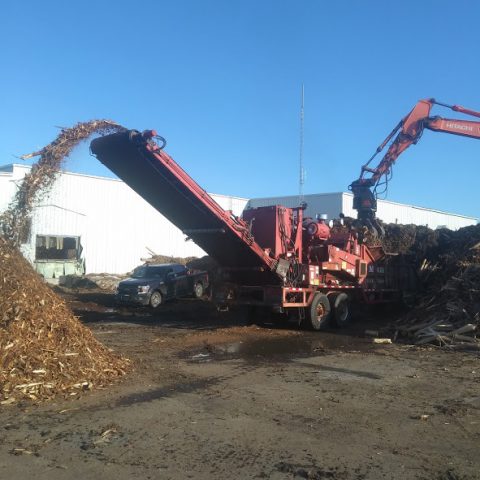
[[[28,238],[32,208],[72,149],[94,133],[122,129],[109,120],[78,123],[23,157],[40,159],[0,215],[0,404],[75,396],[129,369],[128,360],[101,345],[17,249]]]

